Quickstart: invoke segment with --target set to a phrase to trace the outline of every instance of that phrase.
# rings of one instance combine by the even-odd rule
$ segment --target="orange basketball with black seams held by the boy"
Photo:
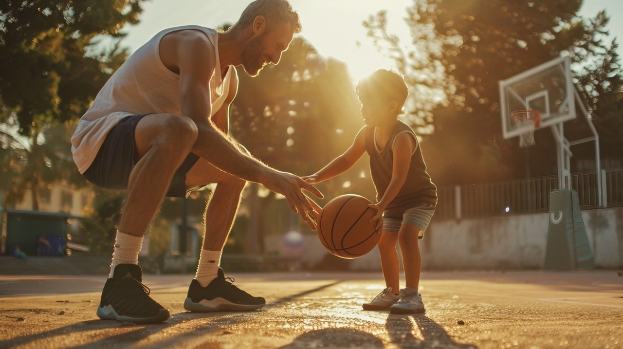
[[[354,259],[370,252],[381,234],[377,234],[374,210],[363,196],[345,194],[329,201],[318,218],[318,238],[331,254]]]

